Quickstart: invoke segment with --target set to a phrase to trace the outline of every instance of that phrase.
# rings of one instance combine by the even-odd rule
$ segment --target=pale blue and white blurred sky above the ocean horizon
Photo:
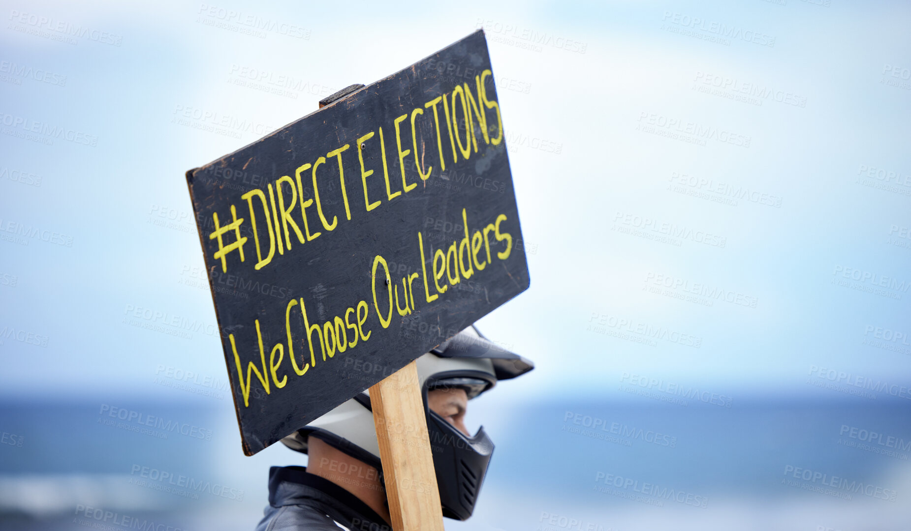
[[[186,339],[121,322],[127,308],[141,307],[214,323],[207,291],[181,282],[202,266],[183,172],[261,135],[233,138],[175,117],[197,109],[249,120],[259,131],[278,128],[329,92],[384,77],[479,25],[505,80],[499,93],[513,135],[507,142],[516,144],[519,209],[526,240],[536,245],[528,254],[531,289],[481,323],[538,364],[511,394],[601,395],[605,383],[612,388],[632,371],[732,393],[807,393],[812,365],[908,382],[905,354],[862,344],[868,325],[911,332],[908,292],[894,300],[831,283],[839,266],[911,283],[908,240],[892,230],[911,223],[911,197],[857,183],[860,168],[911,171],[909,93],[884,83],[901,82],[901,68],[911,66],[907,6],[833,4],[355,3],[339,15],[325,4],[10,3],[2,59],[66,83],[7,74],[14,81],[0,84],[5,131],[21,118],[95,136],[97,146],[3,137],[4,170],[41,177],[40,186],[0,179],[5,228],[56,231],[72,247],[0,241],[0,268],[17,279],[0,286],[3,326],[48,338],[45,348],[3,340],[2,393],[154,395],[162,363],[220,376],[214,335]],[[287,21],[307,38],[207,26],[221,9]],[[107,32],[121,44],[93,41],[101,34],[91,32],[68,37],[74,44],[21,33],[41,26],[30,15]],[[773,46],[705,40],[717,26],[773,38]],[[523,31],[582,43],[585,53],[514,46],[528,44]],[[681,34],[688,31],[702,38]],[[899,77],[884,75],[888,66]],[[241,68],[307,88],[292,98],[234,85]],[[755,105],[696,89],[712,83],[752,84],[772,96]],[[805,107],[774,101],[779,92],[804,98]],[[698,146],[637,130],[662,119],[732,132],[750,145]],[[522,138],[548,140],[560,153]],[[669,189],[683,182],[675,175],[767,194],[780,207],[686,195],[699,188]],[[616,230],[635,229],[636,217],[710,232],[726,244],[678,246]],[[169,221],[173,228],[155,224]],[[643,291],[657,275],[757,304],[707,307]],[[701,337],[701,348],[587,331],[602,314]]]

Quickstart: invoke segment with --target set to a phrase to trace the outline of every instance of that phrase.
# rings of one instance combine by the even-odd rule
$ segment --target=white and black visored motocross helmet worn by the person
[[[484,433],[483,426],[474,436],[467,437],[431,411],[427,407],[427,391],[460,387],[471,399],[496,385],[498,380],[515,378],[535,366],[487,340],[474,325],[417,358],[416,362],[443,514],[465,520],[474,510],[494,444]],[[281,442],[306,454],[309,436],[376,467],[382,477],[380,447],[368,393],[358,394]]]

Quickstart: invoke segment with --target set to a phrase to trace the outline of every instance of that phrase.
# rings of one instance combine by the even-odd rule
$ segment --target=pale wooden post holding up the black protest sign
[[[443,531],[417,364],[371,387],[370,403],[394,531]]]

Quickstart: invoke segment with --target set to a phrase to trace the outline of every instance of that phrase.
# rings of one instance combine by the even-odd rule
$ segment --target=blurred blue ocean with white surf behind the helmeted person
[[[867,402],[477,410],[497,450],[475,516],[446,526],[909,529],[911,408]],[[269,465],[305,459],[244,457],[227,405],[3,403],[0,527],[251,529]]]

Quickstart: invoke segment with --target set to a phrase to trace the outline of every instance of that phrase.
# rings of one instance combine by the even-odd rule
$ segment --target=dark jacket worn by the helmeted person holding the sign
[[[392,531],[373,509],[339,485],[303,466],[272,466],[269,505],[256,531]],[[334,520],[334,522],[333,522]]]

